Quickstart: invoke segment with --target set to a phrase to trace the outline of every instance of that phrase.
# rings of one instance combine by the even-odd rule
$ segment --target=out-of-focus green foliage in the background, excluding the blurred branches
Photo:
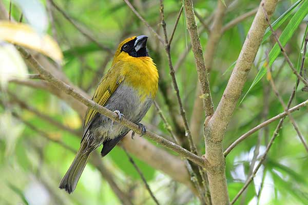
[[[5,0],[3,2],[9,8],[9,1]],[[74,22],[90,32],[98,42],[112,51],[127,36],[148,35],[149,54],[157,63],[160,74],[165,76],[168,86],[171,87],[171,78],[168,75],[168,62],[163,46],[152,36],[147,27],[140,22],[123,1],[57,0],[55,2],[59,7],[63,8]],[[147,22],[155,30],[162,33],[159,1],[131,2],[134,3],[134,6]],[[224,24],[258,7],[260,1],[239,0],[232,2],[235,5],[227,10]],[[303,2],[307,3],[306,1]],[[46,9],[46,2],[42,1],[42,3]],[[272,17],[272,22],[278,19],[294,3],[295,1],[279,1]],[[18,5],[20,4],[23,5],[24,2],[18,1]],[[206,19],[215,11],[217,1],[194,1],[194,4],[196,11]],[[15,5],[13,1],[12,17],[15,19],[18,19],[21,14],[21,9],[18,5]],[[36,12],[35,8],[28,6],[26,9],[29,9],[31,13]],[[181,8],[181,1],[166,0],[164,1],[164,8],[167,31],[170,34],[177,13]],[[49,18],[48,33],[57,40],[63,50],[64,64],[61,69],[73,84],[91,95],[102,75],[110,67],[111,57],[97,44],[91,42],[76,30],[54,7],[51,7],[51,11],[53,23],[51,23]],[[297,8],[292,10],[290,16],[294,16],[296,11]],[[45,15],[47,15],[47,12]],[[285,49],[294,65],[297,65],[301,55],[302,41],[306,30],[305,22],[308,20],[307,16],[303,14],[302,17],[304,20],[300,21],[298,27],[295,24],[294,27],[290,26],[290,19],[292,17],[289,17],[277,28],[277,33],[279,34],[283,32],[292,33],[291,38],[285,42]],[[230,65],[236,61],[240,53],[252,20],[253,17],[245,19],[235,27],[227,30],[221,37],[215,53],[214,64],[209,74],[211,93],[215,106],[218,105],[223,94],[232,70]],[[33,24],[33,22],[28,22],[27,19],[24,22]],[[293,23],[291,22],[291,24]],[[52,28],[53,26],[54,28]],[[199,21],[198,26],[201,27]],[[292,32],[286,31],[286,28],[293,30]],[[56,31],[56,35],[54,35],[52,30]],[[203,48],[205,48],[208,34],[206,32],[201,33],[200,40]],[[257,73],[262,71],[260,69],[266,60],[266,53],[272,50],[274,44],[275,41],[270,36],[264,40],[253,69],[249,73],[243,89],[243,95],[253,84]],[[174,41],[171,44],[171,57],[174,65],[188,45],[189,35],[182,15]],[[305,63],[305,68],[307,65]],[[277,56],[271,69],[278,90],[286,102],[292,92],[296,80],[295,75],[292,74],[291,69],[285,64],[281,54]],[[29,70],[31,71],[31,69]],[[187,57],[176,71],[176,75],[186,113],[188,118],[192,118],[194,117],[191,113],[192,109],[194,109],[198,78],[194,56],[191,51],[189,51]],[[224,148],[227,148],[239,136],[265,119],[271,118],[283,111],[283,107],[275,97],[274,92],[270,88],[267,93],[264,91],[269,86],[268,81],[264,78],[259,80],[259,83],[249,90],[242,103],[237,107],[233,119],[227,128]],[[303,85],[300,84],[293,105],[297,105],[307,99],[308,95],[306,92],[301,91],[302,87]],[[17,95],[18,98],[23,99],[26,104],[48,115],[51,119],[76,131],[82,129],[83,119],[76,111],[70,108],[63,100],[50,93],[15,84],[10,84],[9,90]],[[29,124],[35,126],[54,140],[63,141],[65,145],[74,150],[79,148],[80,136],[62,131],[51,125],[50,122],[42,120],[17,104],[11,104],[9,94],[6,92],[1,91],[0,98],[5,102],[5,109],[0,106],[0,122],[2,122],[0,124],[0,204],[120,204],[120,200],[113,193],[106,180],[90,164],[87,165],[74,194],[68,195],[63,190],[57,189],[62,175],[73,159],[74,153],[64,149],[56,142],[42,137],[41,133],[37,133],[37,131],[26,126],[21,120],[15,119],[9,112],[18,113]],[[268,99],[267,116],[262,114],[266,106],[264,105],[264,98]],[[171,122],[167,111],[168,108],[165,105],[161,92],[157,96],[157,101],[161,105],[168,121]],[[293,116],[307,141],[307,108],[300,109],[300,111],[293,113]],[[149,130],[160,133],[163,136],[168,136],[167,130],[164,128],[158,113],[153,107],[147,113],[143,122],[145,125],[148,125],[147,128]],[[275,121],[267,126],[266,129],[254,133],[226,157],[226,175],[230,199],[239,192],[247,178],[258,136],[261,135],[260,153],[262,154],[277,123],[278,121]],[[201,130],[200,134],[202,134]],[[204,153],[204,142],[202,140],[197,146],[200,152]],[[196,197],[188,191],[187,187],[173,181],[159,170],[153,169],[147,163],[139,160],[138,156],[133,156],[133,159],[142,170],[152,191],[162,204],[199,204]],[[114,180],[118,183],[119,187],[128,193],[134,204],[154,204],[145,190],[139,174],[120,147],[112,150],[102,161],[106,169],[113,174]],[[308,204],[307,169],[307,153],[290,121],[286,119],[279,136],[268,153],[268,159],[257,173],[254,183],[249,185],[247,193],[243,194],[243,197],[236,204],[256,204],[258,197],[260,199],[259,204]],[[261,195],[257,196],[261,186],[263,188]]]

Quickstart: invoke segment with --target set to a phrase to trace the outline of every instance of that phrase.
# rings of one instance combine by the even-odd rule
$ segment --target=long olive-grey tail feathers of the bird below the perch
[[[80,176],[86,166],[90,153],[91,152],[84,152],[83,146],[81,146],[71,166],[60,182],[60,189],[65,189],[65,191],[67,191],[69,194],[75,190]]]

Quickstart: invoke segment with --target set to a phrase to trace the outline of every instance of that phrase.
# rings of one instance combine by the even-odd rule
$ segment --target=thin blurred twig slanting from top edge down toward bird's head
[[[77,30],[79,30],[84,36],[86,36],[89,40],[91,40],[93,43],[95,43],[96,45],[98,45],[102,50],[107,51],[108,53],[112,53],[111,49],[102,45],[101,43],[99,43],[93,36],[92,34],[89,33],[89,31],[84,30],[83,28],[81,28],[78,24],[76,24],[74,22],[74,20],[68,16],[68,14],[65,13],[65,11],[63,9],[61,9],[59,6],[57,6],[53,0],[49,0],[50,3],[52,4],[52,6],[54,8],[56,8],[56,10],[58,10]]]

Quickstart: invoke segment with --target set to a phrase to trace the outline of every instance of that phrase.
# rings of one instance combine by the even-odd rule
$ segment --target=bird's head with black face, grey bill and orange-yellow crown
[[[147,57],[146,49],[147,36],[132,36],[126,38],[119,44],[117,51],[115,51],[113,63],[119,59]]]

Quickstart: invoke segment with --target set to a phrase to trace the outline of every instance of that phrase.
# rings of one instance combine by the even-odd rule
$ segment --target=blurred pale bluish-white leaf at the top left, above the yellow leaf
[[[13,0],[23,11],[32,28],[43,34],[48,28],[48,18],[46,10],[38,0]]]

